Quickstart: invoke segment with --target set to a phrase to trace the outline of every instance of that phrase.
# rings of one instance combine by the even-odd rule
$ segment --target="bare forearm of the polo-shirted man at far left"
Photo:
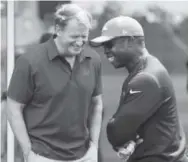
[[[14,135],[16,136],[22,148],[24,157],[27,157],[31,150],[31,142],[23,119],[24,106],[24,104],[21,104],[8,97],[7,118],[14,132]]]

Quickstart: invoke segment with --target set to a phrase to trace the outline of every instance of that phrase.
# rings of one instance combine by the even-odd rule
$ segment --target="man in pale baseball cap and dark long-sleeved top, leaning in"
[[[171,78],[146,49],[139,22],[126,16],[113,18],[90,44],[103,46],[109,62],[129,73],[107,125],[113,149],[129,162],[187,162]],[[143,140],[140,144],[138,137]]]

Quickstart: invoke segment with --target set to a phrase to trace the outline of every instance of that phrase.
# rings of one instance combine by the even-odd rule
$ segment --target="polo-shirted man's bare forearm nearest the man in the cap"
[[[90,137],[96,146],[98,146],[103,112],[102,95],[93,97],[91,104],[93,112],[90,124]]]

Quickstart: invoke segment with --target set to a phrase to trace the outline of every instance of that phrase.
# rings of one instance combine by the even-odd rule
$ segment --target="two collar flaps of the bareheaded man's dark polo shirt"
[[[51,37],[47,41],[46,47],[48,49],[49,60],[53,60],[54,58],[59,56],[59,52],[57,50],[57,46],[55,44],[55,41],[54,41],[53,37]],[[93,57],[93,52],[92,51],[93,50],[91,49],[91,47],[86,45],[86,47],[84,47],[84,50],[82,51],[81,55],[79,56],[79,60],[83,61],[86,58],[92,58]]]

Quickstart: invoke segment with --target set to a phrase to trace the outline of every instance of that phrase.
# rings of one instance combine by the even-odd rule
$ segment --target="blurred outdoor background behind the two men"
[[[178,111],[188,139],[188,93],[186,90],[188,68],[188,1],[15,1],[15,57],[27,52],[31,44],[39,43],[44,33],[53,33],[53,12],[58,4],[76,3],[93,15],[90,39],[100,35],[104,23],[118,15],[136,18],[143,26],[146,47],[168,69],[176,91]],[[1,9],[1,94],[6,91],[7,62],[7,1],[0,2]],[[103,161],[118,162],[115,152],[106,139],[106,123],[115,112],[125,69],[115,70],[103,55],[103,87],[105,115],[101,133]],[[110,95],[109,95],[110,94]],[[6,161],[6,122],[1,101],[1,158]],[[5,145],[3,145],[5,143]],[[16,161],[21,162],[21,152],[15,146]]]

